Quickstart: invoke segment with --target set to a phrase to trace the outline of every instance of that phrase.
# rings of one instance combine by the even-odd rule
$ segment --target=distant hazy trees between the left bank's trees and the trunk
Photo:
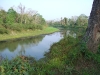
[[[48,21],[50,26],[87,26],[88,16],[81,14],[80,16],[72,16],[71,18],[62,18],[59,21]]]

